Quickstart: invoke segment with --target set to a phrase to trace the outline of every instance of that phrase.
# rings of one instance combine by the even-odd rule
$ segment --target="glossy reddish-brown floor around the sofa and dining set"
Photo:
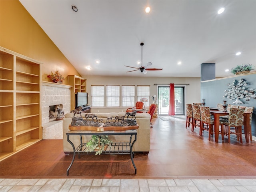
[[[208,133],[191,132],[185,121],[152,120],[148,155],[136,153],[134,175],[129,155],[72,156],[63,153],[62,140],[42,140],[0,162],[0,178],[256,178],[256,142],[235,138],[219,143]]]

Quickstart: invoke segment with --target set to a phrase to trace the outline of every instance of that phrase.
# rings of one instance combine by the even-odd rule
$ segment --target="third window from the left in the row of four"
[[[135,86],[122,86],[122,107],[134,106]]]

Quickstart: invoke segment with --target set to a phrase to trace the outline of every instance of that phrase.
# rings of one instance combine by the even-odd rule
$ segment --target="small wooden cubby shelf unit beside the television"
[[[71,110],[74,110],[76,108],[75,94],[77,92],[86,92],[86,79],[76,75],[68,75],[68,84],[72,86],[70,95],[70,108]]]

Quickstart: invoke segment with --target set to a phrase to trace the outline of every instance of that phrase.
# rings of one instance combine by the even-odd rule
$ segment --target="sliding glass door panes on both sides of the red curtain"
[[[175,114],[184,115],[184,86],[174,87]],[[168,115],[170,87],[158,86],[158,114]]]

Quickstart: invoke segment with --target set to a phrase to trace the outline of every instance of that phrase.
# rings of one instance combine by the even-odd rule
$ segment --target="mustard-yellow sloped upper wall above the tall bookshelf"
[[[0,0],[0,46],[42,62],[43,81],[56,70],[64,84],[67,75],[80,76],[18,0]]]

